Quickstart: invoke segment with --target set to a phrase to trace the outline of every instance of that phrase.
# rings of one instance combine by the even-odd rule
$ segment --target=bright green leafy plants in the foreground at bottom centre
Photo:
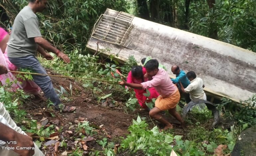
[[[130,134],[121,143],[121,149],[129,149],[131,153],[142,151],[145,155],[170,155],[174,149],[176,153],[181,155],[204,155],[200,150],[202,145],[193,141],[183,141],[180,135],[172,135],[170,133],[160,132],[155,126],[151,130],[148,129],[146,121],[141,120],[138,116],[137,120],[133,119],[133,124],[129,126]]]

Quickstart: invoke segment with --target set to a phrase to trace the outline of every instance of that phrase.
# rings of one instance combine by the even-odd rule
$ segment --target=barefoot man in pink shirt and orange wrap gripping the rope
[[[179,113],[176,112],[176,105],[180,100],[180,93],[177,87],[172,83],[168,73],[162,69],[158,68],[158,61],[156,59],[151,59],[145,64],[148,76],[147,82],[141,84],[127,83],[123,78],[119,81],[120,85],[126,85],[135,89],[148,89],[154,87],[160,96],[155,102],[155,107],[149,112],[150,117],[157,119],[158,121],[165,124],[164,130],[168,128],[173,128],[173,125],[166,120],[162,115],[161,111],[168,110],[168,112],[179,120],[184,126],[184,121]]]

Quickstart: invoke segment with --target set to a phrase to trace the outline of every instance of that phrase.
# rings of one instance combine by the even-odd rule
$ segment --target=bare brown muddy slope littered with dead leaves
[[[51,73],[53,74],[53,73]],[[113,97],[117,102],[118,107],[110,107],[108,104],[103,104],[99,102],[97,98],[92,97],[91,91],[84,89],[79,82],[76,82],[72,79],[66,79],[61,77],[51,77],[53,85],[55,88],[60,89],[62,86],[68,93],[70,93],[69,86],[72,84],[72,96],[68,97],[67,100],[64,100],[65,105],[74,106],[76,110],[74,113],[56,113],[51,109],[48,109],[46,99],[44,102],[35,103],[33,101],[27,101],[24,105],[24,109],[28,112],[28,117],[31,119],[36,119],[38,124],[42,126],[54,125],[55,131],[57,132],[60,127],[63,129],[51,135],[52,137],[45,138],[45,141],[42,142],[42,151],[47,153],[48,156],[52,154],[61,155],[63,152],[71,153],[75,146],[80,147],[83,150],[83,143],[77,143],[75,138],[79,138],[79,134],[75,132],[78,122],[83,120],[88,120],[90,126],[95,128],[95,134],[89,136],[86,133],[83,133],[84,136],[90,139],[86,141],[87,150],[84,150],[83,155],[88,155],[90,151],[93,150],[102,150],[101,146],[96,143],[96,140],[102,140],[102,138],[108,138],[108,142],[112,141],[118,147],[120,144],[120,136],[125,137],[129,132],[127,131],[129,125],[132,123],[132,119],[136,119],[139,115],[144,117],[148,121],[149,126],[153,127],[158,125],[160,128],[163,125],[160,125],[157,121],[152,121],[148,113],[144,110],[137,109],[134,112],[125,111],[124,103],[118,101],[118,96]],[[111,91],[108,91],[108,93]],[[107,94],[108,94],[107,93]],[[113,99],[111,99],[113,100]],[[106,102],[105,102],[106,103]],[[139,104],[138,104],[139,105]],[[53,117],[53,115],[55,117]],[[179,127],[179,121],[175,120],[173,117],[165,115],[172,123],[177,124],[174,128],[174,131],[177,131],[177,134],[182,135],[183,131]],[[32,135],[32,134],[30,134]],[[34,139],[39,138],[37,134],[33,134]],[[81,138],[81,137],[80,137]],[[55,151],[54,145],[45,146],[44,144],[48,141],[53,140],[62,141],[65,140],[67,147],[58,147],[58,152]],[[55,145],[56,146],[56,145]],[[65,154],[65,153],[64,153]]]

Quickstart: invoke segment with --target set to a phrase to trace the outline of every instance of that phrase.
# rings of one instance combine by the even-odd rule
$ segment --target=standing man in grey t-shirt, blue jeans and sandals
[[[7,55],[11,63],[18,68],[30,68],[36,73],[47,74],[35,57],[36,51],[40,52],[46,59],[53,57],[44,49],[55,53],[65,62],[70,60],[66,54],[52,46],[46,39],[42,38],[39,21],[35,13],[42,12],[47,5],[47,0],[29,0],[16,16],[10,39],[8,41]],[[61,103],[56,94],[49,76],[32,75],[35,83],[42,89],[45,96],[50,99],[55,109],[59,110]],[[73,112],[75,107],[64,106],[63,112]]]

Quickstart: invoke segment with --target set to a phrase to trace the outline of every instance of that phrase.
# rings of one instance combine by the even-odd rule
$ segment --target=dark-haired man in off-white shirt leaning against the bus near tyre
[[[196,77],[195,72],[193,71],[189,71],[187,72],[187,77],[190,80],[190,84],[188,85],[187,88],[184,89],[183,85],[181,82],[180,86],[181,86],[181,91],[183,93],[189,93],[190,94],[190,99],[194,100],[194,99],[202,99],[202,100],[206,100],[206,95],[203,91],[203,80],[199,77]],[[206,105],[205,104],[199,104],[200,108],[204,108]]]

